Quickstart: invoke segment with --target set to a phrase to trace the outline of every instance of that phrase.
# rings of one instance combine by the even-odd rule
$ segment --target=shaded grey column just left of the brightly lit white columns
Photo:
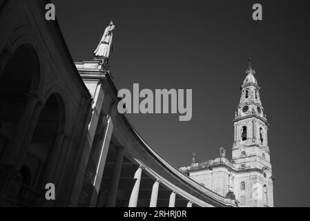
[[[125,148],[123,146],[119,146],[116,148],[117,148],[117,153],[115,157],[113,175],[110,181],[110,189],[108,190],[108,198],[106,200],[106,207],[115,206],[117,190],[118,190],[118,185],[119,185],[119,177],[121,176],[121,171],[122,171],[122,163],[123,163]]]

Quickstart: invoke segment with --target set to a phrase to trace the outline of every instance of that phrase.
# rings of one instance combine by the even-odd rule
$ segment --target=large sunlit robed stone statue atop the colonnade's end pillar
[[[106,30],[104,30],[104,35],[101,37],[101,40],[96,50],[94,51],[95,58],[103,60],[108,59],[108,56],[110,55],[114,29],[115,25],[113,24],[113,21],[111,21],[109,26],[106,27]]]

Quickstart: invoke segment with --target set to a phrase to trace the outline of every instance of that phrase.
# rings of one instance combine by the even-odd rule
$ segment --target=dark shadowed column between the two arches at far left
[[[2,164],[15,164],[19,156],[19,151],[23,145],[26,135],[31,132],[29,128],[33,128],[37,124],[37,119],[41,113],[43,105],[37,105],[39,98],[35,95],[28,95],[26,106],[17,124],[17,129],[14,133],[9,148],[6,148],[5,156],[3,157]],[[33,128],[35,130],[35,127]],[[33,133],[33,131],[32,131]],[[32,133],[30,139],[32,137]]]

